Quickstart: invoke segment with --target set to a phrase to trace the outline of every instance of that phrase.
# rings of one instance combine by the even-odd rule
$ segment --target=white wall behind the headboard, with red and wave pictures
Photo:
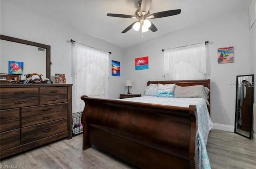
[[[211,79],[212,121],[229,125],[232,128],[235,121],[236,87],[228,87],[227,83],[236,83],[237,75],[251,73],[248,24],[248,8],[243,8],[229,13],[225,17],[215,16],[204,22],[126,49],[125,74],[126,79],[133,80],[134,85],[131,91],[144,94],[143,91],[148,80],[164,80],[162,76],[164,54],[161,49],[209,40],[210,56],[207,58],[207,76]],[[148,32],[144,36],[151,33]],[[228,46],[234,46],[234,63],[218,64],[218,48]],[[148,70],[135,71],[134,58],[140,56],[149,56]]]

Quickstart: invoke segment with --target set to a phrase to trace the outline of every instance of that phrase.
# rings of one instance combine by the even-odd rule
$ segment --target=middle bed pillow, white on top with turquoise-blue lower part
[[[173,97],[175,84],[158,84],[157,97]]]

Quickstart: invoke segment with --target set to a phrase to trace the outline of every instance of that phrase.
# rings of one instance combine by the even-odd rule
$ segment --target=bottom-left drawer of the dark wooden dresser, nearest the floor
[[[0,133],[1,151],[18,145],[20,145],[20,129]]]

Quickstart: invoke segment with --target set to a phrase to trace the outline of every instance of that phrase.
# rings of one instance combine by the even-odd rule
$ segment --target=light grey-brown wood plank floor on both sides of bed
[[[212,169],[256,169],[256,143],[238,134],[212,129],[207,151]],[[94,146],[82,151],[82,134],[4,159],[0,165],[18,169],[136,168]]]

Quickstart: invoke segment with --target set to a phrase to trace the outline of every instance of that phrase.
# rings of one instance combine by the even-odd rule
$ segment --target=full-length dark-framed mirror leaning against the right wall
[[[235,133],[252,139],[254,75],[236,76]]]

